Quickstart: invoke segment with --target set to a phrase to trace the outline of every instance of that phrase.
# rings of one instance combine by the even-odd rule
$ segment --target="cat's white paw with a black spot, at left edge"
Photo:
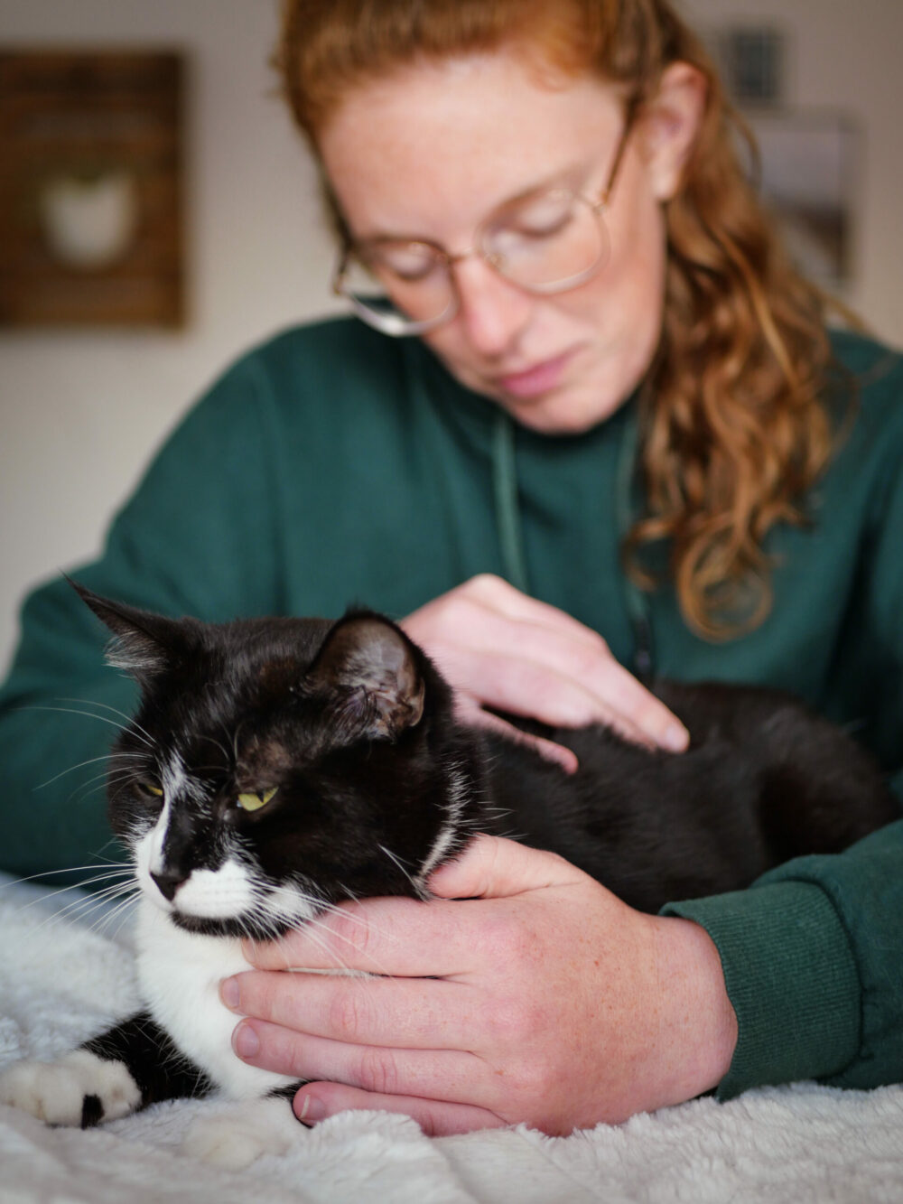
[[[85,1099],[90,1100],[87,1106]],[[0,1103],[47,1125],[81,1125],[85,1111],[92,1122],[128,1116],[141,1105],[141,1091],[123,1062],[75,1050],[58,1062],[8,1067],[0,1074]]]

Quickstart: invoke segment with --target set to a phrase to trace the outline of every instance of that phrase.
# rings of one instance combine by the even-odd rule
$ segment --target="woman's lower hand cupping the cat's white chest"
[[[560,857],[478,837],[430,885],[246,949],[234,1046],[311,1080],[295,1111],[413,1116],[425,1132],[525,1121],[565,1134],[689,1099],[726,1073],[736,1017],[706,931],[631,910]],[[279,973],[368,970],[379,978]]]

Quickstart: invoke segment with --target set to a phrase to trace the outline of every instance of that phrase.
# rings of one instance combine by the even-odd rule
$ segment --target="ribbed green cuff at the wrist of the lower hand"
[[[668,903],[662,915],[702,925],[715,942],[737,1013],[737,1049],[718,1087],[750,1087],[837,1074],[860,1046],[861,991],[843,925],[809,883]]]

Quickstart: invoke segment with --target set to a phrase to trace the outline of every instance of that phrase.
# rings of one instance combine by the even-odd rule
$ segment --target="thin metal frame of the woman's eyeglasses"
[[[631,130],[633,128],[635,107],[628,106],[627,116],[624,123],[624,129],[621,130],[621,136],[618,141],[615,148],[614,159],[612,166],[608,171],[608,178],[606,181],[602,191],[598,197],[594,200],[590,196],[585,196],[582,193],[574,193],[569,188],[550,189],[550,195],[553,196],[569,196],[573,201],[579,201],[586,205],[596,220],[602,224],[606,209],[612,199],[612,193],[614,190],[615,182],[618,179],[618,172],[624,160],[624,152],[627,148],[627,140],[630,137]],[[368,306],[364,305],[358,300],[358,297],[344,288],[344,277],[348,272],[348,264],[353,255],[358,255],[361,261],[364,256],[360,254],[359,244],[350,237],[346,236],[342,247],[338,253],[338,259],[336,261],[336,267],[332,273],[332,291],[346,301],[350,302],[352,308],[358,314],[358,317],[365,321],[368,326],[374,330],[380,331],[384,335],[389,335],[393,338],[406,338],[413,335],[424,335],[430,330],[436,330],[438,326],[444,325],[450,321],[455,314],[461,308],[461,295],[458,288],[458,282],[455,279],[455,273],[453,271],[456,264],[464,262],[466,259],[472,259],[477,255],[483,260],[489,267],[492,268],[503,281],[508,284],[514,284],[515,288],[523,289],[533,296],[551,296],[556,293],[567,293],[568,289],[576,289],[580,284],[585,284],[586,281],[592,279],[592,277],[600,271],[602,265],[602,254],[600,253],[596,262],[590,265],[583,272],[578,272],[576,276],[569,276],[563,281],[556,281],[554,284],[520,284],[518,281],[512,281],[510,277],[506,276],[498,267],[497,258],[488,252],[480,246],[480,238],[483,231],[492,223],[494,213],[484,218],[483,222],[477,226],[474,231],[474,241],[467,250],[458,252],[458,254],[452,254],[452,252],[445,250],[444,247],[439,246],[437,242],[432,242],[430,238],[408,238],[406,240],[411,246],[427,247],[436,256],[436,262],[445,268],[448,275],[448,282],[450,285],[449,302],[445,308],[435,318],[424,318],[421,320],[412,320],[403,318],[397,313],[377,313]],[[495,261],[494,261],[495,259]]]

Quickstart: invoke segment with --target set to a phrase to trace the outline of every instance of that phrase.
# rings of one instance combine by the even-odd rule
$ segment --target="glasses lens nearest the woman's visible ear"
[[[482,249],[496,271],[533,293],[557,293],[604,266],[608,231],[589,201],[563,189],[520,200],[483,231]]]

